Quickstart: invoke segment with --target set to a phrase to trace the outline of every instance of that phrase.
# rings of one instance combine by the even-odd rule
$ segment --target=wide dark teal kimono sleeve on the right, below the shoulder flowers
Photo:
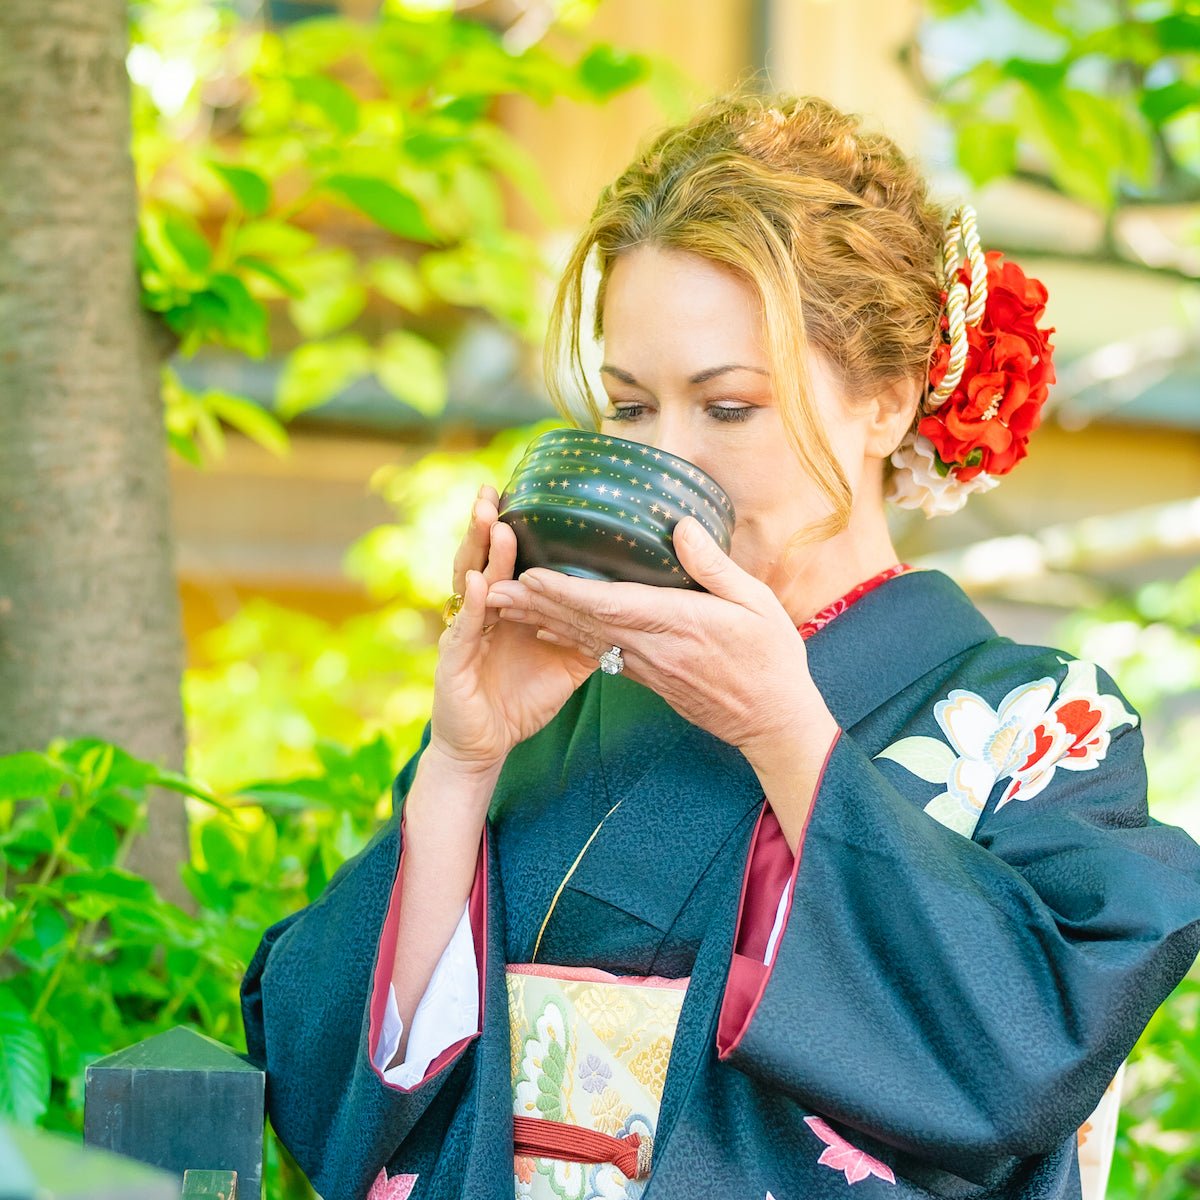
[[[1055,679],[1039,685],[1052,697]],[[1124,713],[1120,694],[1103,701]],[[970,794],[961,746],[925,746],[916,778],[841,732],[794,866],[788,856],[774,959],[749,989],[750,948],[740,989],[731,970],[719,1057],[967,1176],[1061,1146],[1200,949],[1200,847],[1148,817],[1141,731],[1124,715],[1111,737],[1103,722],[1091,740],[1060,737],[1057,758],[1038,740],[1061,732],[1045,720],[1014,773],[986,782],[978,826],[958,830],[928,780]],[[748,878],[766,856],[782,886],[773,839],[764,810]]]

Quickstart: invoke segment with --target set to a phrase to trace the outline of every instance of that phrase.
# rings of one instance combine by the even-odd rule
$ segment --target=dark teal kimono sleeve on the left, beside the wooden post
[[[481,1028],[480,962],[474,1032],[442,1050],[408,1087],[388,1082],[372,1061],[395,956],[403,799],[428,733],[426,726],[396,779],[391,820],[316,901],[266,930],[241,984],[246,1045],[266,1070],[271,1124],[326,1200],[365,1195],[434,1097],[463,1088]],[[487,840],[485,834],[468,901],[478,954],[486,953],[488,919],[499,920],[487,913],[497,902],[487,882]]]

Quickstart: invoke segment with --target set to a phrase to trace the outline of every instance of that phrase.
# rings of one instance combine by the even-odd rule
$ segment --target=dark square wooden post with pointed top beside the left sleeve
[[[263,1194],[266,1076],[228,1046],[176,1026],[88,1068],[84,1141],[182,1176],[236,1171]]]

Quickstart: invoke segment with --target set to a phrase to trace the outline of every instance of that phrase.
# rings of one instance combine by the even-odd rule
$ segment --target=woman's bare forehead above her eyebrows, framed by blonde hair
[[[727,361],[766,370],[761,326],[754,287],[700,254],[638,246],[610,269],[605,356],[635,373],[635,360],[673,362],[680,371]]]

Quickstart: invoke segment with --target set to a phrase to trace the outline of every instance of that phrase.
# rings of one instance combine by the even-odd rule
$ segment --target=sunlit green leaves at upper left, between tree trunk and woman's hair
[[[547,264],[510,227],[505,190],[544,223],[558,216],[498,97],[604,103],[649,84],[670,100],[678,86],[643,55],[517,47],[452,7],[268,29],[216,0],[131,6],[143,304],[184,356],[286,353],[283,420],[370,376],[436,416],[461,310],[540,336]],[[558,6],[569,41],[592,7]],[[170,372],[163,390],[170,445],[190,462],[221,452],[222,424],[286,446],[280,421],[245,400],[188,392]]]

